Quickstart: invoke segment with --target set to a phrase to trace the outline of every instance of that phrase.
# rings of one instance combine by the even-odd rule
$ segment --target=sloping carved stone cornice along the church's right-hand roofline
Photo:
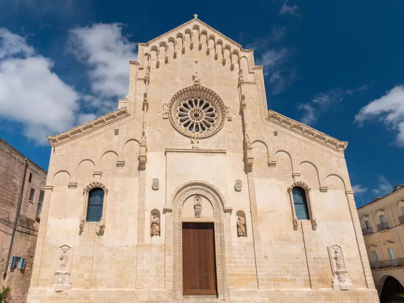
[[[331,149],[339,151],[343,153],[346,146],[348,146],[348,142],[340,141],[333,137],[326,135],[310,126],[307,126],[303,123],[297,122],[293,119],[290,119],[286,116],[283,116],[274,111],[268,111],[268,118],[269,121],[274,122],[277,125],[281,125],[286,129],[289,129],[295,133],[305,136],[306,138],[312,139],[317,143],[325,145]]]

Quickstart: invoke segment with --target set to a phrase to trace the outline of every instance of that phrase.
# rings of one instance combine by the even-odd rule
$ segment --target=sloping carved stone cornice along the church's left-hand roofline
[[[51,146],[58,146],[62,143],[66,143],[70,140],[79,138],[83,135],[93,132],[94,130],[103,128],[128,116],[130,116],[128,107],[122,107],[112,113],[96,118],[82,125],[76,126],[75,128],[65,131],[59,135],[47,136],[47,139],[49,143],[51,143]]]

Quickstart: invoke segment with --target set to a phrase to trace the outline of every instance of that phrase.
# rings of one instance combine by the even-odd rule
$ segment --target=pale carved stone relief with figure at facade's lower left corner
[[[59,246],[58,262],[52,284],[55,285],[55,291],[60,292],[70,289],[70,269],[72,266],[73,246],[62,244]]]

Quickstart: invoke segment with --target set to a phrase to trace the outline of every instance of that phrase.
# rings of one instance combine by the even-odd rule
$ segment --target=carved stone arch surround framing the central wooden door
[[[226,206],[226,201],[221,192],[215,186],[205,181],[189,181],[180,185],[170,199],[170,206],[165,208],[166,213],[172,212],[172,216],[166,218],[166,246],[169,245],[169,247],[172,247],[173,298],[175,300],[181,300],[183,296],[181,213],[182,204],[191,195],[205,196],[212,203],[215,219],[214,229],[218,297],[223,300],[228,300],[229,287],[226,269],[225,213],[231,213],[232,208]],[[230,218],[226,220],[226,225],[227,221],[230,222]]]

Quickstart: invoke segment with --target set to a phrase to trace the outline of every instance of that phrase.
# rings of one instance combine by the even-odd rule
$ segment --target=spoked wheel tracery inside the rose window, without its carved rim
[[[208,100],[191,97],[181,102],[177,108],[177,118],[183,128],[199,133],[215,126],[217,114]]]

